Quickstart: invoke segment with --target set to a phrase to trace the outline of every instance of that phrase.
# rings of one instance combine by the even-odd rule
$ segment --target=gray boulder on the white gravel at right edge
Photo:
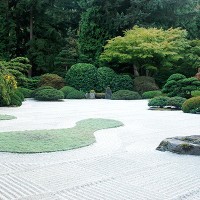
[[[173,137],[163,140],[156,148],[178,154],[200,155],[200,135]]]

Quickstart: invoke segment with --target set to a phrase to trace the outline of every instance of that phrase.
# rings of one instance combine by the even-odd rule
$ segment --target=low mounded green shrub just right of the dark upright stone
[[[133,92],[130,90],[119,90],[112,94],[112,100],[135,100],[141,99],[138,92]]]

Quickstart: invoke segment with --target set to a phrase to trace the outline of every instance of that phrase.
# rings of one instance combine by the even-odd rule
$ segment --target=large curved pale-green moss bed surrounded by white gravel
[[[86,119],[73,128],[0,133],[0,152],[42,153],[64,151],[94,143],[94,132],[123,126],[111,119]]]

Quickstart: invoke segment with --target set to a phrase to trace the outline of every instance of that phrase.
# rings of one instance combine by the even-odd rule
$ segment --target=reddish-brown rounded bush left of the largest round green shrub
[[[56,89],[61,89],[64,85],[64,79],[57,74],[44,74],[39,81],[39,86],[51,86]]]

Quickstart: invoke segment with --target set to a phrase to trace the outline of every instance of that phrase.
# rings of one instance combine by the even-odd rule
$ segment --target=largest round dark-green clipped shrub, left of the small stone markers
[[[84,92],[95,88],[97,83],[97,68],[92,64],[78,63],[72,65],[65,77],[67,85]]]

